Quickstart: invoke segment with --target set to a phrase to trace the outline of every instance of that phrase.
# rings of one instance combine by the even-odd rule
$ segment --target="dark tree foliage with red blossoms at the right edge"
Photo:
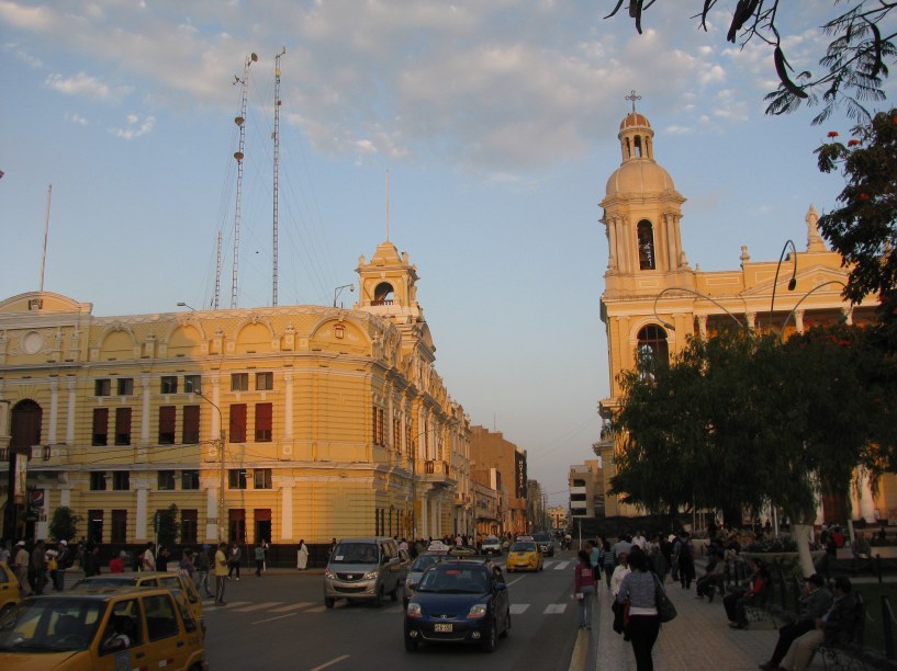
[[[851,273],[844,295],[852,302],[877,295],[879,319],[897,321],[897,109],[853,129],[846,145],[829,133],[816,150],[819,170],[839,168],[846,185],[841,205],[819,218],[819,230]]]

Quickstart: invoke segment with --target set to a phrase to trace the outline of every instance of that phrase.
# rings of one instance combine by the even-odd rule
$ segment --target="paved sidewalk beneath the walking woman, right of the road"
[[[635,671],[636,660],[632,646],[612,628],[614,616],[610,612],[610,592],[603,584],[595,600],[593,627],[591,632],[580,630],[576,646],[587,645],[585,666],[571,664],[571,671],[592,669],[615,669]],[[748,629],[732,629],[728,626],[722,599],[713,603],[706,599],[695,599],[695,585],[686,591],[679,583],[666,583],[666,594],[679,611],[679,616],[661,627],[654,645],[654,669],[688,669],[697,671],[755,670],[772,655],[778,629],[770,621],[750,624]],[[776,621],[778,622],[778,621]],[[782,626],[783,623],[778,623]],[[573,656],[574,660],[576,655]],[[809,667],[823,669],[818,658]]]

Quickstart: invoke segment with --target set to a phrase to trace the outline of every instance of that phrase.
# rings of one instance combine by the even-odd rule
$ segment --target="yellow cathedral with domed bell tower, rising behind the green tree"
[[[623,160],[607,180],[601,202],[609,250],[601,300],[610,374],[610,396],[599,403],[605,420],[620,401],[617,376],[633,369],[642,357],[672,360],[689,336],[713,334],[733,326],[732,321],[752,330],[784,331],[787,337],[812,323],[873,320],[872,302],[851,306],[841,297],[849,271],[842,268],[841,255],[826,247],[811,205],[805,226],[783,226],[784,231],[794,230],[789,235],[795,237],[804,228],[806,246],[798,250],[791,240],[785,242],[781,264],[778,260],[753,261],[742,247],[736,270],[692,268],[680,228],[685,198],[654,159],[650,123],[633,109],[620,123],[617,137]],[[604,465],[607,516],[638,512],[608,493],[614,455],[620,448],[619,436],[610,430],[603,431],[595,446]],[[884,519],[886,509],[893,508],[897,508],[894,487],[883,487],[873,499],[866,486],[856,494],[854,518],[872,522],[876,509]]]

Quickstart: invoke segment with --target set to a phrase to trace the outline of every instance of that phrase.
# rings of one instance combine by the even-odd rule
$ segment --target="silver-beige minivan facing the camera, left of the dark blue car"
[[[344,538],[324,570],[324,605],[332,609],[337,599],[346,599],[380,607],[386,594],[399,601],[401,578],[395,541],[388,536]]]

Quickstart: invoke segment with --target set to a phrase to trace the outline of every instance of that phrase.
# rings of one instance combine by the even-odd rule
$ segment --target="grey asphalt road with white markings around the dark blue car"
[[[479,647],[421,646],[406,652],[403,610],[338,601],[326,610],[318,573],[268,573],[227,583],[227,606],[205,602],[205,651],[216,669],[349,669],[411,667],[458,671],[540,669],[567,671],[578,634],[571,599],[572,553],[547,558],[538,573],[505,573],[512,629],[495,652]],[[503,566],[503,561],[500,561]]]

